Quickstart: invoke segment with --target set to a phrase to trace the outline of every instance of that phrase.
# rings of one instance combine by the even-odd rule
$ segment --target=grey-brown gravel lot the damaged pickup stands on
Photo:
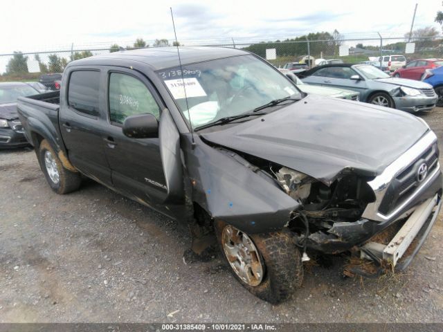
[[[442,141],[443,109],[422,118]],[[0,151],[0,322],[443,322],[442,237],[440,216],[401,275],[343,278],[343,257],[310,266],[273,306],[221,257],[183,260],[183,226],[93,181],[58,196],[33,151]]]

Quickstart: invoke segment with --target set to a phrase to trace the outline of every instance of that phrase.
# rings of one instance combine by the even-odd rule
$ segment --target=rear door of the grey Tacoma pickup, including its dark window
[[[73,69],[66,96],[60,98],[60,131],[69,159],[87,176],[111,185],[111,171],[103,144],[107,126],[105,104],[100,98],[100,68]]]

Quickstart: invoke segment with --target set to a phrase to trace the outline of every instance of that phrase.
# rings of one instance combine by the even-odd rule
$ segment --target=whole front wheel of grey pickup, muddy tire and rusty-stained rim
[[[277,304],[301,286],[300,251],[289,234],[248,235],[221,221],[216,222],[215,228],[231,272],[253,295]]]

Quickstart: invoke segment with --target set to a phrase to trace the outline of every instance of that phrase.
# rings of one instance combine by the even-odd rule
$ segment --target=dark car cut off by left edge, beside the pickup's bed
[[[37,93],[26,83],[0,83],[0,149],[29,145],[17,114],[17,98]]]

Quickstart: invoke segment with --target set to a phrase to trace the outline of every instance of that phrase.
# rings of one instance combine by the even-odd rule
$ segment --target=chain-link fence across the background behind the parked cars
[[[161,46],[173,46],[173,43],[162,39]],[[413,43],[408,45],[408,42]],[[200,44],[199,42],[183,43],[183,46],[224,46],[248,50],[278,68],[288,63],[304,66],[324,64],[323,60],[339,59],[344,63],[379,61],[381,55],[404,55],[407,61],[420,58],[443,57],[443,36],[365,39],[316,39],[291,40],[284,42],[244,42],[237,44]],[[62,73],[66,64],[75,59],[92,55],[106,54],[121,48],[114,44],[109,48],[82,48],[71,50],[51,50],[44,52],[14,52],[0,55],[0,82],[34,82],[46,73]]]

